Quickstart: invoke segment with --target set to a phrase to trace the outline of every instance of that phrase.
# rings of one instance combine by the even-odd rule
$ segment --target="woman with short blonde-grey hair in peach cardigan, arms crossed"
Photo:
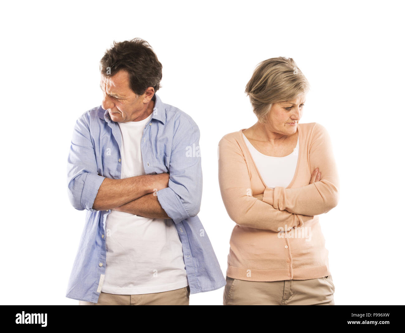
[[[222,200],[236,223],[224,305],[334,305],[318,215],[339,201],[332,144],[298,124],[309,83],[292,58],[261,62],[246,85],[258,122],[219,143]]]

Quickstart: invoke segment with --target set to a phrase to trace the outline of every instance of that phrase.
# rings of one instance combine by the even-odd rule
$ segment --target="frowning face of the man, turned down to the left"
[[[101,107],[108,111],[113,122],[143,119],[150,98],[147,98],[146,93],[138,96],[132,91],[126,71],[119,70],[110,77],[101,75],[100,88],[103,92]]]

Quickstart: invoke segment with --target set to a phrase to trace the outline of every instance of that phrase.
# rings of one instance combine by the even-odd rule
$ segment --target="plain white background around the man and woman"
[[[3,4],[1,304],[65,297],[85,212],[70,206],[76,119],[101,104],[98,62],[113,40],[147,40],[158,95],[200,128],[201,211],[226,272],[228,218],[217,144],[256,122],[244,90],[258,62],[293,58],[311,85],[301,123],[332,141],[339,205],[320,216],[335,303],[403,304],[404,26],[400,2],[108,1]],[[190,304],[222,304],[223,288]]]

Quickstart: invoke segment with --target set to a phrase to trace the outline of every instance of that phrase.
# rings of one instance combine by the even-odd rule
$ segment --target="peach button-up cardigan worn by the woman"
[[[266,188],[242,130],[218,146],[222,200],[236,223],[226,275],[240,280],[306,280],[330,275],[318,215],[339,201],[339,177],[330,136],[318,123],[298,124],[299,152],[286,187]],[[319,168],[321,179],[309,184]],[[253,195],[263,194],[263,201]]]

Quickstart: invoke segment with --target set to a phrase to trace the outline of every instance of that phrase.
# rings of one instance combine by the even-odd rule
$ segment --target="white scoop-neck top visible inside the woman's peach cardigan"
[[[245,137],[245,134],[243,134],[243,138],[263,178],[264,184],[266,184],[268,188],[275,188],[276,186],[287,187],[290,185],[298,162],[298,139],[297,145],[290,155],[275,157],[267,156],[259,152],[252,143],[250,143],[247,137]]]

